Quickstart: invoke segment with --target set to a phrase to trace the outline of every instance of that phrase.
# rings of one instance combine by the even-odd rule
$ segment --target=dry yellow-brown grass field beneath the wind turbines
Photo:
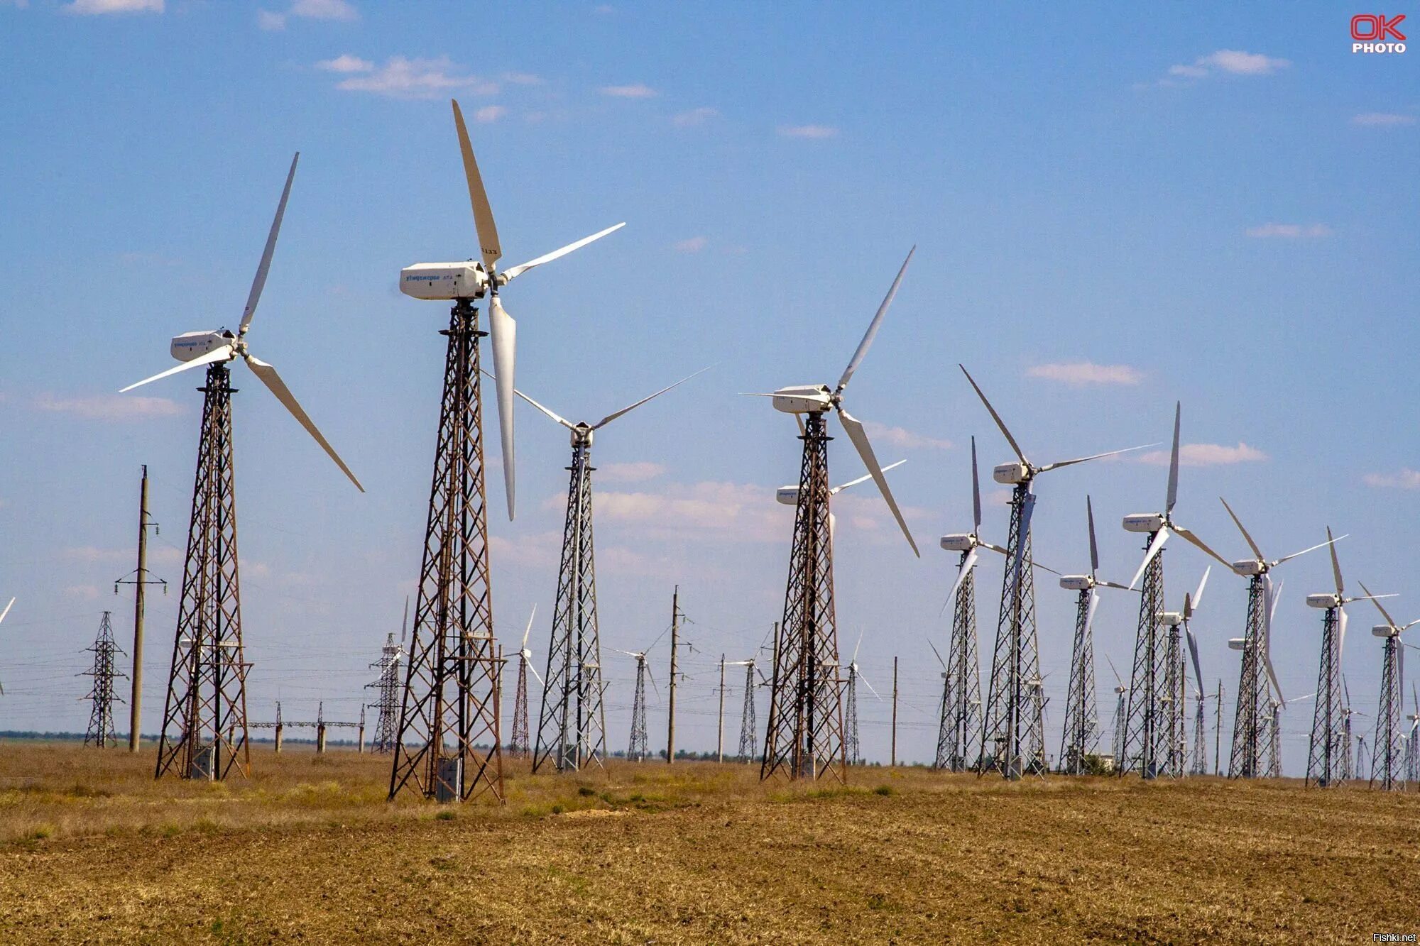
[[[747,766],[530,776],[386,804],[388,759],[0,744],[0,942],[1370,942],[1420,932],[1420,795],[1296,781]]]

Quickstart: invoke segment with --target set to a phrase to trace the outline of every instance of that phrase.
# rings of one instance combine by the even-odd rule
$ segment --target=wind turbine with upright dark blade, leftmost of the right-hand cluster
[[[941,665],[941,719],[937,726],[936,768],[967,771],[980,764],[981,665],[977,656],[976,564],[978,548],[1005,554],[981,540],[981,479],[977,474],[976,437],[971,437],[971,531],[941,537],[941,548],[960,553],[957,578],[943,609],[951,608],[951,641]],[[936,645],[933,645],[936,652]],[[940,659],[940,656],[939,656]]]

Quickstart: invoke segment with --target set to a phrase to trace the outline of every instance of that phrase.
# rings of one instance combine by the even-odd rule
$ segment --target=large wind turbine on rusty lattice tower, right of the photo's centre
[[[914,251],[914,250],[913,250]],[[843,740],[843,706],[838,679],[838,624],[834,611],[834,541],[829,527],[828,413],[838,412],[869,476],[878,484],[888,509],[907,537],[913,554],[917,544],[897,509],[862,422],[848,412],[843,392],[868,355],[873,337],[892,305],[902,277],[912,261],[903,260],[897,277],[878,307],[858,349],[834,388],[794,385],[771,395],[774,409],[792,413],[802,430],[804,456],[799,467],[798,506],[794,514],[794,545],[784,594],[784,619],[775,641],[774,687],[770,720],[764,736],[760,778],[784,771],[790,778],[818,778],[824,773],[842,781],[848,764]],[[807,415],[807,419],[799,415]]]

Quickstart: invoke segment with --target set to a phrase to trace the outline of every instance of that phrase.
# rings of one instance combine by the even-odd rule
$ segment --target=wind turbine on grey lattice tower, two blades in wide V
[[[557,604],[547,649],[547,679],[538,713],[532,771],[550,759],[558,771],[579,770],[606,754],[606,719],[602,710],[602,643],[596,625],[596,554],[592,540],[592,437],[612,420],[659,398],[701,371],[686,375],[653,395],[595,423],[572,423],[521,391],[514,393],[571,432],[572,463],[567,469],[567,520],[557,577]]]

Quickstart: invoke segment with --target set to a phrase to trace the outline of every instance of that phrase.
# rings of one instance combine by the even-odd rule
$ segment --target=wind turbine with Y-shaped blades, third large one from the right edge
[[[1264,670],[1267,673],[1267,679],[1272,682],[1272,689],[1277,690],[1278,702],[1284,709],[1287,707],[1287,700],[1282,697],[1282,687],[1277,682],[1277,672],[1272,669],[1272,570],[1285,561],[1296,558],[1298,555],[1305,555],[1309,551],[1325,548],[1326,545],[1339,543],[1346,537],[1328,537],[1326,541],[1304,548],[1302,551],[1269,560],[1262,554],[1262,550],[1258,548],[1257,543],[1252,541],[1252,535],[1250,535],[1247,528],[1244,528],[1242,520],[1237,517],[1233,507],[1228,506],[1228,501],[1223,497],[1218,497],[1218,501],[1223,503],[1223,509],[1228,511],[1233,523],[1238,527],[1238,531],[1242,533],[1242,538],[1247,540],[1254,558],[1242,558],[1230,562],[1201,541],[1194,541],[1194,544],[1207,554],[1213,555],[1217,561],[1231,568],[1234,574],[1248,580],[1247,629],[1244,631],[1242,638],[1228,641],[1230,648],[1242,651],[1242,670],[1238,679],[1237,713],[1233,720],[1233,751],[1228,760],[1228,777],[1257,778],[1262,774],[1262,747],[1260,740],[1262,727],[1267,723],[1264,719],[1267,710]]]

